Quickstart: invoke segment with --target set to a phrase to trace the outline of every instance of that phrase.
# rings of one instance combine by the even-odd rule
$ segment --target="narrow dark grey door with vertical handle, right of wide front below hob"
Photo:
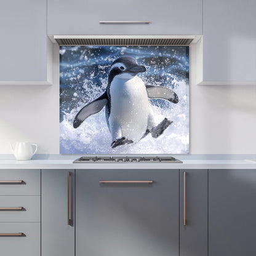
[[[180,170],[180,256],[207,256],[207,173]]]

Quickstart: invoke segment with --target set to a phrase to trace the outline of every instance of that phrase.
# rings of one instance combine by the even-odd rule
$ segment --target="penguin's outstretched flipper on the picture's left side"
[[[102,110],[102,108],[108,103],[108,97],[106,92],[102,94],[102,96],[96,98],[93,102],[90,102],[86,106],[84,106],[74,118],[73,127],[78,128],[82,122],[92,114],[96,114]]]

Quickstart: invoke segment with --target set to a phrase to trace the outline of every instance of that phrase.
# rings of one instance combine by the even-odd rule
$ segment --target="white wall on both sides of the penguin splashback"
[[[256,87],[197,86],[190,55],[190,153],[256,154]],[[59,153],[59,65],[54,46],[53,86],[0,87],[0,154],[9,142],[29,141],[38,153]]]

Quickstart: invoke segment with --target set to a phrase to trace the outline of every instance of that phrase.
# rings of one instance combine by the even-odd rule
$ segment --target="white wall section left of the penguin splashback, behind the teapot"
[[[58,153],[59,57],[54,46],[53,86],[0,86],[0,154],[9,142],[37,143],[38,153]]]

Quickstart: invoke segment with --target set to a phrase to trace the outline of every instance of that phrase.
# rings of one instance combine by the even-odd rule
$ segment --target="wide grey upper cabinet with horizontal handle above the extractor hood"
[[[202,34],[202,0],[48,0],[47,34]]]

